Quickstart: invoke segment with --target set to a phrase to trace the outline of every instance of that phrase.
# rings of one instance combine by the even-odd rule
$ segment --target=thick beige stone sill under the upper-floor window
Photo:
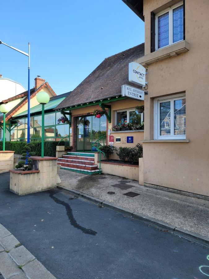
[[[135,62],[142,64],[142,66],[146,67],[160,60],[167,59],[168,57],[175,57],[187,51],[189,51],[189,43],[186,41],[181,41],[169,45],[168,47],[163,47],[159,50],[146,54],[141,58],[135,60]]]

